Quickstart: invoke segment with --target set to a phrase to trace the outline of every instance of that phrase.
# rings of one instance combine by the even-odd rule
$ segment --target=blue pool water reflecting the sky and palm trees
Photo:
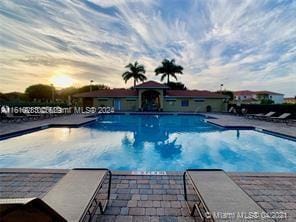
[[[0,167],[296,172],[296,143],[201,116],[110,115],[0,141]]]

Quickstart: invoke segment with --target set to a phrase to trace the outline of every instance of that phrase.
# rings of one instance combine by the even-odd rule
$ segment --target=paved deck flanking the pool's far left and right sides
[[[137,113],[143,114],[143,113]],[[164,114],[164,113],[160,113]],[[172,114],[172,113],[169,113]],[[190,114],[190,113],[184,113]],[[286,123],[275,123],[260,120],[247,119],[241,116],[228,114],[200,113],[210,117],[209,123],[227,128],[260,128],[269,132],[278,133],[283,136],[296,138],[296,125],[287,125]],[[36,131],[48,127],[79,127],[89,122],[95,121],[94,117],[89,115],[68,115],[54,117],[43,120],[35,120],[21,123],[0,123],[0,137],[10,137],[30,131]]]

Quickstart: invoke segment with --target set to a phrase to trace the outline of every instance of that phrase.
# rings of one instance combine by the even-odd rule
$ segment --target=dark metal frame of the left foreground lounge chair
[[[83,221],[85,216],[88,215],[89,216],[88,221],[90,222],[98,208],[100,209],[101,214],[105,213],[108,202],[110,200],[112,173],[107,168],[74,168],[73,170],[106,170],[107,171],[106,175],[109,174],[107,199],[104,201],[104,203],[102,203],[101,201],[98,201],[96,199],[97,194],[99,193],[99,191],[101,190],[101,188],[103,186],[103,182],[106,177],[106,175],[105,175],[104,178],[101,180],[97,190],[95,191],[94,195],[90,199],[88,206],[86,207],[86,209],[84,210],[84,213],[82,214],[82,216],[80,218],[80,221]],[[91,211],[92,208],[93,208],[93,210]]]

